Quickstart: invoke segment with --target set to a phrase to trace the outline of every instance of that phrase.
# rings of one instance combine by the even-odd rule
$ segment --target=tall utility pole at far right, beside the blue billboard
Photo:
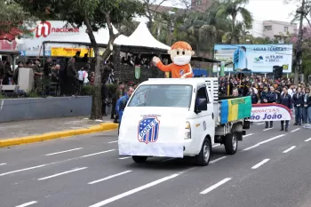
[[[296,45],[296,52],[295,52],[295,79],[294,79],[294,83],[298,84],[298,77],[301,74],[301,69],[302,69],[302,36],[303,36],[303,29],[302,29],[302,23],[303,23],[303,19],[304,19],[304,15],[306,12],[306,0],[302,0],[302,4],[301,7],[299,9],[299,13],[300,13],[300,24],[299,24],[299,36],[298,36],[298,41],[297,41],[297,45]]]

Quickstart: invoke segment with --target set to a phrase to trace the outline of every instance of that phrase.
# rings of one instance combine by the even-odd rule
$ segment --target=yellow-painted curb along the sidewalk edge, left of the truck
[[[9,147],[14,145],[29,144],[39,141],[45,141],[50,139],[60,139],[65,137],[71,137],[76,135],[95,133],[100,131],[116,130],[118,123],[100,123],[89,128],[70,130],[70,131],[55,131],[44,134],[38,134],[28,137],[12,138],[12,139],[0,139],[0,147]]]

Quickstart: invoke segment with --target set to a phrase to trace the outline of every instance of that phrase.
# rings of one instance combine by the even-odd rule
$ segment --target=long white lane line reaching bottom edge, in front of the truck
[[[141,186],[141,187],[136,187],[132,190],[129,190],[127,192],[124,192],[123,194],[120,194],[120,195],[116,195],[116,196],[113,196],[111,198],[108,198],[100,203],[95,203],[95,204],[92,204],[90,205],[90,207],[101,207],[101,206],[104,206],[104,205],[107,205],[108,203],[112,203],[112,202],[115,202],[121,198],[124,198],[128,195],[132,195],[132,194],[135,194],[137,192],[140,192],[141,190],[144,190],[144,189],[147,189],[148,187],[153,187],[153,186],[156,186],[160,183],[163,183],[167,180],[170,180],[170,179],[174,179],[176,177],[178,177],[180,175],[180,173],[176,173],[176,174],[172,174],[170,176],[167,176],[167,177],[164,177],[163,179],[157,179],[156,181],[153,181],[153,182],[150,182],[144,186]]]

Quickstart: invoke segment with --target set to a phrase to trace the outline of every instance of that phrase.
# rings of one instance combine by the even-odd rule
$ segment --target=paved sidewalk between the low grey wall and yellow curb
[[[99,125],[112,123],[110,116],[105,116],[103,122],[88,120],[87,116],[68,118],[28,120],[21,122],[0,123],[0,140],[41,135],[54,131],[81,130]]]

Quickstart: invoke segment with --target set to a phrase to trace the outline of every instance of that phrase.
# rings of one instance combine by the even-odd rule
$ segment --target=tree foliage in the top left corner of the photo
[[[12,41],[16,36],[28,36],[28,27],[33,23],[31,16],[20,4],[0,0],[0,39]]]

